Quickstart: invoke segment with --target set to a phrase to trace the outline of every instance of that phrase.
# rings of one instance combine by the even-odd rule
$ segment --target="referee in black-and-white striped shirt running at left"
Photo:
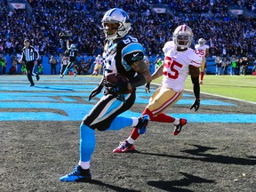
[[[34,73],[34,68],[37,64],[39,53],[33,46],[30,45],[28,39],[24,40],[24,45],[25,46],[22,49],[22,56],[19,62],[25,62],[27,68],[28,81],[30,82],[30,86],[34,86],[35,84],[33,82],[32,76],[36,76],[37,81],[40,78],[38,72]]]

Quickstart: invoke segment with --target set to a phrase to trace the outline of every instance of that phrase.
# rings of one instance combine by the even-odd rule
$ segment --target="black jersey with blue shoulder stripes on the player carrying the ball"
[[[124,36],[115,44],[107,43],[104,53],[105,76],[108,73],[120,73],[132,79],[136,73],[132,69],[132,63],[144,58],[143,46],[132,36]]]

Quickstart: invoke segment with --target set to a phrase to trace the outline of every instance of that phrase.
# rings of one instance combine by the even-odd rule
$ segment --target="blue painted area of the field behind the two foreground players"
[[[0,121],[81,121],[90,112],[97,100],[88,101],[92,89],[99,84],[100,79],[90,76],[78,77],[65,76],[65,80],[58,76],[44,76],[35,87],[28,87],[26,76],[4,76],[0,78]],[[136,103],[143,104],[141,112],[148,104],[150,95],[156,89],[152,88],[147,94],[144,87],[137,89]],[[100,99],[102,93],[95,98]],[[81,103],[81,100],[84,100]],[[184,93],[181,100],[175,105],[189,106],[194,101],[194,95]],[[202,100],[201,106],[237,107],[237,104],[220,100]],[[8,109],[8,110],[7,110]],[[17,109],[17,110],[16,110]],[[22,111],[19,111],[22,110]],[[28,109],[28,111],[26,111]],[[31,111],[33,109],[33,111]],[[40,111],[44,109],[44,111]],[[24,111],[25,110],[25,111]],[[49,110],[49,111],[47,111]],[[189,109],[188,109],[188,112]],[[170,114],[175,117],[187,118],[190,123],[256,123],[253,114]],[[140,116],[132,110],[126,111],[122,116]]]

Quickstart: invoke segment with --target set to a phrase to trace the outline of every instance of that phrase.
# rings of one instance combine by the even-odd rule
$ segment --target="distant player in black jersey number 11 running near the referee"
[[[61,73],[61,71],[60,71],[60,78],[62,78],[63,76],[67,75],[68,71],[72,71],[75,74],[75,76],[77,75],[76,70],[73,68],[73,66],[76,63],[77,53],[78,53],[78,50],[76,49],[76,45],[75,44],[71,44],[70,47],[64,53],[64,55],[69,57],[68,66],[65,69],[64,73]]]

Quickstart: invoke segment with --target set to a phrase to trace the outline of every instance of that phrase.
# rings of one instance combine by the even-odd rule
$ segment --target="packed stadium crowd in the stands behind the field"
[[[186,0],[182,3],[180,0],[30,0],[28,2],[33,8],[31,17],[28,17],[25,11],[12,12],[2,1],[0,52],[19,53],[24,38],[32,41],[40,55],[64,52],[63,47],[60,46],[59,34],[61,31],[69,31],[73,34],[71,43],[76,44],[81,53],[96,56],[102,52],[101,48],[104,44],[99,18],[102,12],[118,6],[131,15],[131,34],[138,37],[146,48],[145,52],[148,56],[161,53],[164,42],[172,38],[173,29],[182,23],[193,28],[195,40],[204,37],[208,41],[211,55],[236,54],[249,57],[256,55],[255,20],[243,17],[234,19],[228,16],[227,12],[230,4],[243,5],[255,12],[255,3],[252,0],[208,0],[204,3],[199,0]],[[153,12],[152,4],[167,4],[169,10],[174,12],[174,17]],[[209,11],[217,13],[212,17],[198,14]]]

